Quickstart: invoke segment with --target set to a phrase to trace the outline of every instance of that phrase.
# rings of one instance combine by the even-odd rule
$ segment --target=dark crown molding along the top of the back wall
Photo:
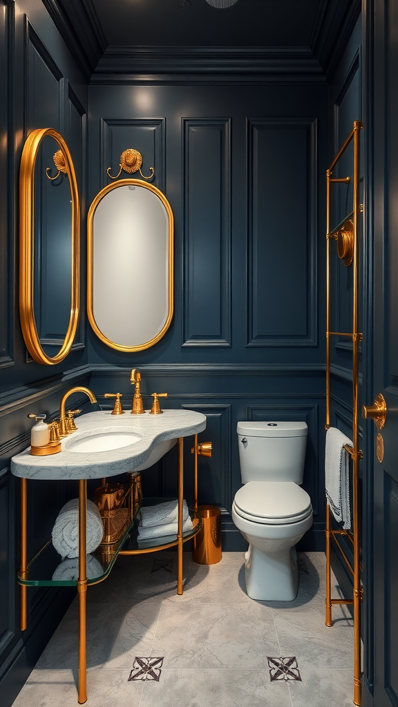
[[[91,83],[326,83],[307,47],[108,47]]]

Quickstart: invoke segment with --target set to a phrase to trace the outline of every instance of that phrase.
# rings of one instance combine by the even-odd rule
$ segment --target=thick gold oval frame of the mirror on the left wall
[[[45,136],[52,137],[58,144],[64,157],[65,168],[69,177],[72,199],[72,269],[71,269],[71,307],[69,324],[61,348],[56,356],[47,356],[42,349],[35,322],[33,302],[33,253],[35,225],[35,162],[40,143]],[[80,288],[80,208],[76,175],[72,156],[63,137],[52,128],[39,128],[31,132],[23,146],[21,170],[19,176],[19,314],[23,339],[30,356],[37,362],[52,366],[60,363],[69,354],[76,334],[79,320]]]

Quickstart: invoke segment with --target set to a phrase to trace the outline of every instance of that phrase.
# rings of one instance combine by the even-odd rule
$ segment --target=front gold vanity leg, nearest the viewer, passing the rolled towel
[[[79,687],[78,702],[87,701],[87,665],[86,665],[86,521],[87,521],[87,481],[79,479]]]

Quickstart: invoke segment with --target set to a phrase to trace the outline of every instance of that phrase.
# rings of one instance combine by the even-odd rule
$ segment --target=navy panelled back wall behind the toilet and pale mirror
[[[105,392],[123,392],[127,408],[129,371],[137,366],[145,407],[152,392],[164,391],[164,407],[207,415],[202,439],[212,440],[214,453],[200,460],[200,502],[224,509],[224,549],[242,547],[229,515],[241,483],[239,419],[307,421],[305,488],[315,518],[302,542],[322,547],[324,307],[318,293],[324,291],[328,133],[326,86],[90,88],[90,199],[108,183],[106,168],[115,173],[123,150],[135,148],[144,173],[154,166],[153,183],[176,219],[169,331],[135,355],[112,351],[88,332],[91,387],[101,404]],[[150,272],[147,277],[149,288]],[[139,302],[126,303],[125,315],[144,306],[143,293]],[[186,462],[192,464],[189,453]],[[148,491],[173,493],[173,464],[170,452],[147,476]]]

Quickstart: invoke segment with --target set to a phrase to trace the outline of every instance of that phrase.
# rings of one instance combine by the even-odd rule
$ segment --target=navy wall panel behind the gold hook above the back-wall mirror
[[[151,181],[161,192],[166,187],[166,119],[152,118],[100,118],[101,159],[99,184],[102,189],[108,184],[106,170],[118,173],[120,155],[128,148],[142,154],[142,170],[154,168]],[[123,173],[123,178],[137,177]]]

